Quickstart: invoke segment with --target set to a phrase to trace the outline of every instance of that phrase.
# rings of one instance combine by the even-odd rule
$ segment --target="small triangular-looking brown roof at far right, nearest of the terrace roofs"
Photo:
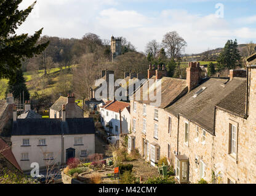
[[[246,81],[243,81],[234,91],[217,104],[218,108],[246,117]]]

